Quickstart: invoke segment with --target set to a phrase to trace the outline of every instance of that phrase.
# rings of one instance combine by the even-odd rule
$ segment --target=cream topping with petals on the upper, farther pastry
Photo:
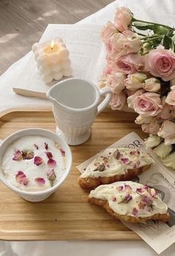
[[[136,169],[150,163],[153,163],[153,160],[149,154],[135,149],[106,149],[87,166],[80,178],[120,175],[127,172],[127,169]]]

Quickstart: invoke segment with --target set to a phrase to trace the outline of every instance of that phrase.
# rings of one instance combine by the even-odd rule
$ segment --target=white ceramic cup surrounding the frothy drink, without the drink
[[[49,139],[54,140],[56,143],[59,143],[60,147],[66,152],[66,170],[64,174],[60,177],[60,180],[57,182],[57,184],[55,184],[53,187],[49,188],[48,190],[36,191],[36,192],[19,190],[17,187],[10,184],[10,182],[7,181],[7,179],[4,177],[4,174],[2,173],[1,160],[4,155],[4,152],[15,140],[18,140],[19,138],[25,137],[28,135],[48,137]],[[47,199],[48,196],[51,196],[51,194],[54,193],[58,187],[60,187],[60,184],[62,184],[63,181],[65,181],[66,177],[69,175],[69,172],[71,170],[71,162],[72,162],[71,149],[69,148],[68,144],[63,139],[61,139],[57,134],[54,134],[54,132],[48,131],[45,129],[40,129],[40,128],[28,128],[21,131],[16,131],[15,133],[7,137],[5,140],[3,140],[3,142],[0,145],[0,180],[7,187],[9,187],[10,190],[13,190],[19,196],[22,196],[23,199],[28,200],[30,202],[39,202],[44,199]]]

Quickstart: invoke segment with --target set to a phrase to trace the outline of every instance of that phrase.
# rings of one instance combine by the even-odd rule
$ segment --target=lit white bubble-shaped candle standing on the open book
[[[35,43],[32,51],[37,68],[46,84],[53,80],[59,81],[63,76],[71,76],[69,50],[61,38],[54,38],[51,42]]]

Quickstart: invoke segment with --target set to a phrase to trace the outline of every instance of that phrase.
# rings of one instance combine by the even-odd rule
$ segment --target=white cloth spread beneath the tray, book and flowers
[[[81,22],[104,24],[112,20],[116,6],[129,7],[138,19],[175,24],[174,0],[118,0],[104,9],[83,19]],[[50,103],[42,99],[25,98],[12,91],[13,84],[27,63],[31,52],[14,63],[0,77],[0,111],[10,107],[36,106],[46,107]],[[0,227],[1,228],[1,227]],[[162,241],[163,243],[163,241]],[[0,242],[0,256],[46,256],[46,255],[83,255],[83,256],[156,256],[144,241],[86,241],[86,242]],[[174,256],[175,245],[171,246],[161,256]]]

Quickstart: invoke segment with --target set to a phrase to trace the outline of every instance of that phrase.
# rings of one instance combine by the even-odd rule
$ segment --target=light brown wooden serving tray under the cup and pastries
[[[10,113],[8,113],[10,112]],[[139,236],[96,205],[87,203],[88,193],[78,184],[76,166],[131,131],[145,137],[134,123],[136,114],[105,110],[92,126],[92,137],[71,146],[73,166],[56,193],[43,202],[31,203],[0,183],[1,240],[138,240]],[[8,110],[0,115],[0,139],[22,128],[55,131],[50,109]]]

